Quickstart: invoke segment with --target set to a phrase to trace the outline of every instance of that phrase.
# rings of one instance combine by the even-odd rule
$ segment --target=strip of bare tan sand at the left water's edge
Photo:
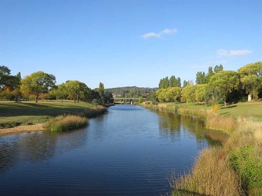
[[[0,136],[21,132],[43,131],[45,130],[43,125],[43,123],[39,123],[35,125],[23,125],[7,129],[0,129]]]

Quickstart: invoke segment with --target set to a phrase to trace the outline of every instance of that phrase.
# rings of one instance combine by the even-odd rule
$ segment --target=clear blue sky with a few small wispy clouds
[[[260,0],[0,2],[0,64],[22,77],[157,87],[262,59]]]

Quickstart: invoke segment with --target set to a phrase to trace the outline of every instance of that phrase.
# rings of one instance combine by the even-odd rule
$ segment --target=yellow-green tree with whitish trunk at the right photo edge
[[[259,89],[262,87],[262,77],[258,77],[257,75],[248,75],[242,77],[240,81],[243,84],[243,89],[246,90],[246,93],[250,97],[248,101],[251,100],[252,96],[254,100],[257,100]]]

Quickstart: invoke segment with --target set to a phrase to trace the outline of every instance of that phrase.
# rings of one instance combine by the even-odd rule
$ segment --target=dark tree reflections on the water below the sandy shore
[[[86,130],[32,132],[0,138],[0,172],[19,161],[39,162],[64,153],[86,142]]]

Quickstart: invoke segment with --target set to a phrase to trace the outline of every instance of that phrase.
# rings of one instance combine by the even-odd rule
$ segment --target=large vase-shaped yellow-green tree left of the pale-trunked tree
[[[227,105],[227,95],[239,88],[239,75],[235,71],[220,71],[210,78],[210,86],[217,89]]]

